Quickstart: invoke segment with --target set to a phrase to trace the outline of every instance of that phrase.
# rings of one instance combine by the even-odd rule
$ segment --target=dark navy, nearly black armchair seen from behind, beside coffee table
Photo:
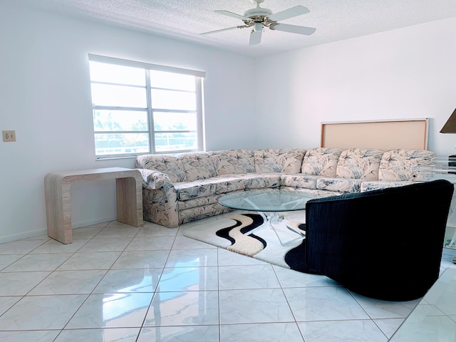
[[[306,204],[306,239],[286,258],[375,299],[424,296],[440,271],[453,185],[420,182]]]

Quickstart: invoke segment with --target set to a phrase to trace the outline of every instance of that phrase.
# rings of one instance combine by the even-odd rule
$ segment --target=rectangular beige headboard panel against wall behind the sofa
[[[427,150],[428,120],[321,123],[321,147]]]

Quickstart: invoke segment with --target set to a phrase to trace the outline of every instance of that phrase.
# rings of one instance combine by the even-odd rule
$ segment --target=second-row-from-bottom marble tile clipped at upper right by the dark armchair
[[[368,319],[366,311],[344,288],[306,287],[284,289],[296,321]]]

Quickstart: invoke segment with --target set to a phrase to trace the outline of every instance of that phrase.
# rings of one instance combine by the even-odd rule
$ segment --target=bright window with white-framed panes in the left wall
[[[203,150],[201,71],[89,55],[97,159]]]

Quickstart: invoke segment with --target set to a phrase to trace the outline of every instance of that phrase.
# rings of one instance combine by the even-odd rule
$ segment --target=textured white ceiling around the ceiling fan
[[[315,27],[316,33],[301,36],[266,29],[261,44],[248,46],[249,28],[207,36],[199,33],[242,25],[242,21],[214,13],[214,10],[243,15],[244,11],[255,7],[249,0],[11,1],[218,46],[247,56],[264,56],[456,16],[456,0],[265,0],[261,7],[274,13],[296,5],[306,6],[309,14],[281,22]]]

